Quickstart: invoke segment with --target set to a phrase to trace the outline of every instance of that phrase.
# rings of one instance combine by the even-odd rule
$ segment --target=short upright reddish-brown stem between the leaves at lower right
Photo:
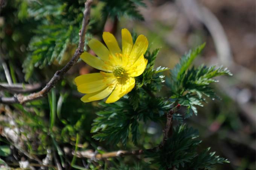
[[[172,127],[172,115],[177,112],[177,110],[180,108],[180,104],[177,104],[174,108],[172,108],[168,113],[167,113],[167,120],[166,120],[166,126],[163,130],[163,142],[160,145],[165,145],[165,142],[167,139],[171,136],[171,127]]]

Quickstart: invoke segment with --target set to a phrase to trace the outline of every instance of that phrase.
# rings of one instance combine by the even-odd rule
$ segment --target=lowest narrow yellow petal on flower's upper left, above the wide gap
[[[104,61],[99,59],[98,57],[95,57],[88,52],[83,52],[80,56],[80,58],[90,65],[91,67],[94,67],[95,69],[102,70],[105,72],[112,72],[110,69],[110,66],[108,66]]]

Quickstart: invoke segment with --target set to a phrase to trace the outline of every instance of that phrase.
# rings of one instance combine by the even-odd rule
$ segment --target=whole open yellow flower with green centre
[[[98,57],[88,52],[84,52],[80,57],[91,67],[103,71],[75,78],[78,91],[86,94],[81,98],[83,102],[101,100],[108,95],[106,103],[119,100],[134,88],[134,77],[144,72],[148,62],[144,58],[148,48],[145,36],[138,36],[133,44],[131,33],[122,29],[122,51],[113,34],[104,32],[102,37],[107,47],[96,39],[88,42]]]

